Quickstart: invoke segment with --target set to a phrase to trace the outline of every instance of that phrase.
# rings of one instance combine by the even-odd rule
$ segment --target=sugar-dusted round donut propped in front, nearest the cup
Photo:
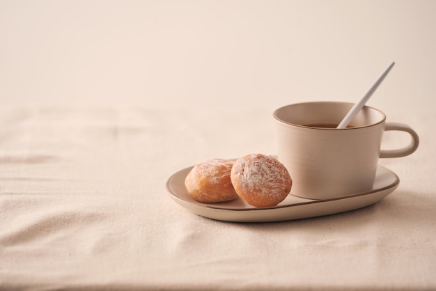
[[[237,159],[231,170],[231,181],[238,196],[255,207],[281,203],[292,187],[286,167],[274,157],[261,154]]]

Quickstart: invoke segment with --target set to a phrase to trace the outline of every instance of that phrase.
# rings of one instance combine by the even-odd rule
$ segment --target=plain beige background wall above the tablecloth
[[[396,61],[368,104],[413,111],[435,104],[435,15],[422,0],[0,0],[0,106],[354,102]]]

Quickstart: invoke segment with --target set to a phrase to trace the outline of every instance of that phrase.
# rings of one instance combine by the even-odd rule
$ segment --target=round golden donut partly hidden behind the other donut
[[[219,203],[238,198],[230,179],[233,162],[209,159],[196,164],[185,178],[189,195],[202,203]]]

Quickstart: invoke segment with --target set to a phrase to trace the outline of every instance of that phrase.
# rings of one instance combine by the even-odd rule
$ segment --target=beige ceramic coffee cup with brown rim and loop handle
[[[328,199],[371,191],[378,159],[403,157],[419,136],[403,123],[386,123],[382,111],[364,107],[350,127],[336,129],[352,103],[306,102],[274,111],[278,159],[288,168],[294,196]],[[412,137],[405,148],[380,150],[384,131]]]

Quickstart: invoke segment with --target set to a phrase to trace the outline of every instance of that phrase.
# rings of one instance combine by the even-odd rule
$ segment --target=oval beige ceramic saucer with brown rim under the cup
[[[166,182],[169,196],[194,214],[210,219],[234,222],[286,221],[356,210],[388,196],[400,183],[400,179],[394,172],[383,166],[378,166],[371,191],[326,200],[309,200],[288,195],[279,205],[257,208],[245,203],[240,198],[226,203],[196,202],[189,196],[185,188],[185,178],[191,169],[192,166],[171,175]]]

